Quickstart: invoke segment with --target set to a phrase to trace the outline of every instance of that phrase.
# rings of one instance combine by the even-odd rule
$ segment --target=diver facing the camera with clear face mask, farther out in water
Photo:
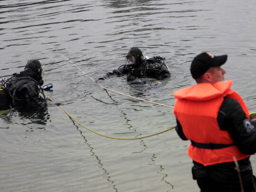
[[[146,77],[161,80],[170,77],[170,72],[165,65],[165,58],[160,56],[153,58],[146,56],[144,58],[141,50],[133,47],[129,50],[125,58],[125,65],[120,66],[112,72],[108,72],[105,76],[99,78],[99,80],[104,80],[110,75],[128,75],[128,81]]]

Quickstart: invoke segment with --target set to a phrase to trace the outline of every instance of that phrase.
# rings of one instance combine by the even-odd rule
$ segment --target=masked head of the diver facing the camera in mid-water
[[[139,65],[143,59],[143,54],[141,50],[137,47],[133,47],[129,50],[127,56],[125,57],[126,65]]]

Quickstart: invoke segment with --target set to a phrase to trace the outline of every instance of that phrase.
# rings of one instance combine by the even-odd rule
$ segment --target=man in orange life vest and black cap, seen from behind
[[[197,84],[174,92],[175,129],[181,139],[191,140],[188,156],[201,192],[256,192],[249,160],[256,152],[255,113],[249,116],[230,88],[232,81],[224,81],[221,66],[227,58],[203,52],[193,59],[190,70]]]

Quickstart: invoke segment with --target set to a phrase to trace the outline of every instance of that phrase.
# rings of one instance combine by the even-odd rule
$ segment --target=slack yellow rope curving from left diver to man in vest
[[[56,103],[54,100],[52,100],[51,98],[47,97],[48,100],[51,100],[52,102]],[[100,134],[100,133],[97,133],[91,129],[89,129],[88,127],[82,125],[80,122],[78,122],[75,118],[73,118],[61,105],[59,105],[61,107],[61,109],[64,110],[64,112],[70,117],[72,118],[76,123],[78,123],[79,125],[81,125],[82,127],[84,127],[85,129],[91,131],[92,133],[94,134],[98,134],[98,135],[101,135],[103,137],[107,137],[107,138],[110,138],[110,139],[119,139],[119,140],[136,140],[136,139],[143,139],[143,138],[146,138],[146,137],[151,137],[151,136],[154,136],[154,135],[157,135],[157,134],[162,134],[162,133],[165,133],[167,131],[170,131],[171,129],[173,129],[175,126],[173,127],[170,127],[168,129],[166,129],[165,131],[161,131],[159,133],[156,133],[156,134],[150,134],[150,135],[146,135],[146,136],[142,136],[142,137],[136,137],[136,138],[119,138],[119,137],[110,137],[110,136],[107,136],[107,135],[104,135],[104,134]]]

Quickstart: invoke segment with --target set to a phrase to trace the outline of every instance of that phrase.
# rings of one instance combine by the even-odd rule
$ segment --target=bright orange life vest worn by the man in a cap
[[[242,160],[249,155],[243,154],[234,145],[228,131],[220,130],[217,121],[219,108],[224,97],[236,99],[247,118],[249,113],[241,96],[232,90],[231,80],[210,83],[198,83],[174,92],[177,99],[174,114],[183,128],[186,138],[197,143],[213,143],[226,145],[220,149],[203,149],[192,144],[188,149],[188,156],[204,166],[218,163],[232,162],[233,156]]]

